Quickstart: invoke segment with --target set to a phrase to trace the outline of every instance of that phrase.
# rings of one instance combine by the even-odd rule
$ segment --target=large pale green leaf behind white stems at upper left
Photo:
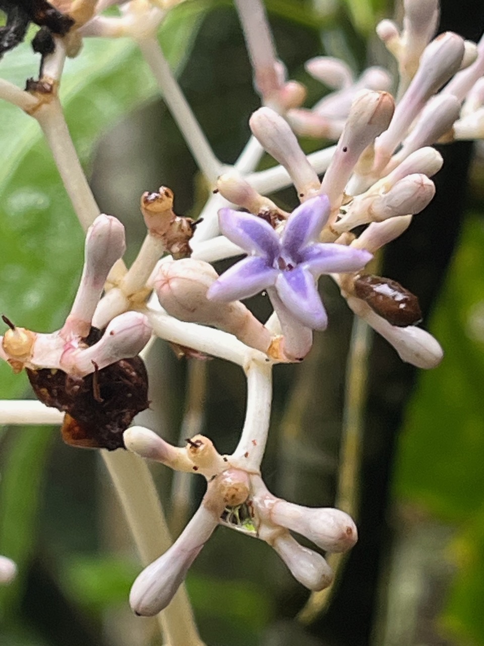
[[[187,43],[205,5],[186,3],[168,14],[160,39],[176,70],[190,52]],[[37,57],[24,43],[1,61],[3,78],[23,86],[37,74]],[[106,129],[158,94],[137,45],[129,39],[86,39],[81,54],[66,61],[61,84],[74,145],[86,164]],[[77,224],[37,122],[0,101],[0,313],[37,331],[58,328],[72,302],[83,258]],[[1,396],[18,397],[25,377],[0,364]]]

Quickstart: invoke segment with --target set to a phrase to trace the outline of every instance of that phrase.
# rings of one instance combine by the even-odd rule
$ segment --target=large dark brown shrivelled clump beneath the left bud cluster
[[[91,328],[86,345],[102,336]],[[125,448],[123,432],[148,408],[148,375],[139,357],[121,359],[83,378],[63,370],[26,369],[35,395],[46,406],[65,412],[65,443],[83,448]]]

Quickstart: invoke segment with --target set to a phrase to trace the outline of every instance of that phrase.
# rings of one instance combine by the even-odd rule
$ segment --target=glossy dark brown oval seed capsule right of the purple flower
[[[361,274],[354,281],[354,292],[391,325],[406,328],[422,320],[418,298],[396,280]]]

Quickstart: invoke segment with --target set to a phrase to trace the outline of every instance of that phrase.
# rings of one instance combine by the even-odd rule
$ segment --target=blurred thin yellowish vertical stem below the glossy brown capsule
[[[367,399],[368,353],[370,351],[371,329],[365,321],[354,317],[350,352],[347,362],[345,408],[341,447],[339,449],[338,490],[334,506],[347,512],[356,520],[358,512],[358,479],[361,464],[361,443],[364,427],[364,410]],[[346,554],[328,554],[326,560],[334,570],[335,579],[347,558]],[[312,592],[305,607],[297,618],[301,623],[312,623],[324,612],[334,589],[331,587]]]

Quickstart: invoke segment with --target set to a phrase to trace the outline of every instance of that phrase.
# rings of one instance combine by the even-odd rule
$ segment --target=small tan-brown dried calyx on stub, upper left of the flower
[[[192,255],[189,240],[198,222],[179,216],[173,211],[173,191],[161,186],[159,191],[141,196],[141,213],[150,235],[163,242],[175,260]],[[201,220],[199,220],[201,222]]]

